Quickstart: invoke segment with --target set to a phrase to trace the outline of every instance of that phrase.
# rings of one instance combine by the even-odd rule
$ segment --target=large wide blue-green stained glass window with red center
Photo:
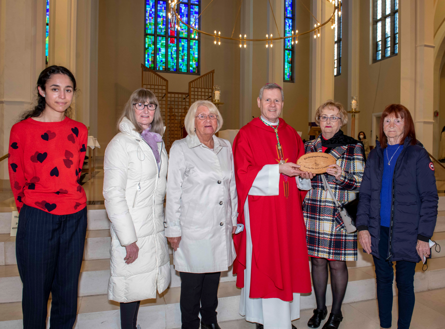
[[[199,28],[200,1],[181,0],[176,12]],[[164,72],[199,74],[198,33],[181,23],[167,0],[145,0],[145,66]]]

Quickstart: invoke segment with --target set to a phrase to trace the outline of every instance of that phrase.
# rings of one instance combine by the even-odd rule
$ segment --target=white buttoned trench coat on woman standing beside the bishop
[[[236,253],[237,195],[228,140],[213,135],[214,147],[196,135],[173,142],[168,165],[165,236],[181,236],[173,252],[179,272],[225,271]]]

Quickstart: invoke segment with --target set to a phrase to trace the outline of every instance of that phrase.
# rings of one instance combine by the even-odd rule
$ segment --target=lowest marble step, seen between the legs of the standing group
[[[428,261],[428,269],[421,270],[417,264],[414,275],[416,292],[445,287],[445,258],[435,258]],[[326,304],[332,303],[328,281]],[[393,294],[397,291],[394,284]],[[218,321],[241,319],[238,313],[240,289],[234,282],[220,282],[218,288]],[[173,329],[181,326],[179,309],[180,288],[168,288],[154,299],[143,300],[140,305],[138,324],[142,328]],[[343,304],[376,298],[375,274],[372,266],[350,268],[349,279]],[[75,329],[119,329],[119,304],[109,301],[105,294],[80,296]],[[312,293],[301,295],[301,309],[315,307]],[[48,303],[48,308],[50,302]],[[21,303],[0,303],[0,329],[21,328]]]

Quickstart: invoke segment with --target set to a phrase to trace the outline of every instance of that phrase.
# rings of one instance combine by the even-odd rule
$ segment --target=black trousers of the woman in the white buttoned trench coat
[[[182,329],[199,329],[199,317],[205,324],[215,323],[218,306],[218,285],[221,272],[179,272],[181,277],[181,322]],[[199,307],[200,305],[200,307]]]

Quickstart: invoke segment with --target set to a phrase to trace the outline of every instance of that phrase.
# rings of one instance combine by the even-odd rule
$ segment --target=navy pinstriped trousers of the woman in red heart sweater
[[[15,255],[23,282],[23,329],[44,329],[49,292],[50,328],[72,329],[86,235],[86,207],[55,215],[23,204]]]

